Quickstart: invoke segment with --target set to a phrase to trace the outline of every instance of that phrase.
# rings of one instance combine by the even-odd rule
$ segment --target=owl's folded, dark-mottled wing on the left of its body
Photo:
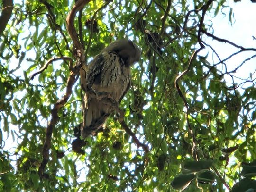
[[[101,80],[101,71],[104,67],[104,58],[102,54],[97,55],[92,63],[89,65],[87,70],[87,86],[91,88],[93,83],[99,83]]]

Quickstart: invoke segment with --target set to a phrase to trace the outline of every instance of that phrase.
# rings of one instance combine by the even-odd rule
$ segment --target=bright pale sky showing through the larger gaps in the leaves
[[[255,25],[256,3],[253,4],[251,3],[250,0],[241,0],[241,2],[234,3],[233,0],[229,0],[227,5],[233,8],[234,18],[232,18],[232,20],[234,23],[232,25],[229,22],[229,17],[228,17],[229,9],[230,9],[229,7],[223,9],[223,12],[226,15],[218,14],[218,16],[214,18],[206,16],[205,23],[211,24],[209,20],[212,21],[212,27],[214,29],[215,36],[218,36],[223,39],[228,39],[229,41],[234,42],[238,45],[244,46],[245,48],[256,48],[256,40],[253,39],[253,36],[256,37],[256,25]],[[216,50],[216,52],[218,53],[221,59],[228,57],[230,54],[238,50],[238,49],[234,49],[232,46],[229,46],[226,43],[219,43],[217,41],[212,41],[211,38],[203,39],[203,40],[206,43],[210,44]],[[208,51],[210,50],[209,49],[203,50],[199,55],[203,56],[207,54]],[[247,52],[247,53],[239,54],[237,57],[230,59],[227,62],[228,70],[232,70],[236,68],[236,66],[238,66],[245,58],[249,58],[252,55],[253,55],[252,52]],[[212,60],[214,63],[218,62],[218,58],[216,56],[212,57],[211,54],[209,54],[207,59],[209,60],[210,63],[212,63]],[[18,60],[14,60],[14,62],[12,63],[14,63],[13,68],[18,66]],[[21,69],[26,70],[28,65],[23,65],[24,67],[22,67]],[[235,75],[240,78],[247,78],[250,73],[253,73],[253,71],[255,71],[255,69],[256,69],[256,58],[253,58],[250,61],[246,62],[245,65],[243,65],[243,67],[241,67]],[[254,74],[253,76],[254,78],[256,78],[256,74]],[[231,82],[231,79],[228,76],[226,76],[225,79],[226,81]],[[241,81],[239,79],[236,79],[236,80],[237,80],[237,83]],[[14,127],[14,126],[11,126],[11,128],[17,130],[17,127]],[[3,140],[6,141],[7,134],[6,133],[3,133],[3,134],[4,134]],[[4,147],[4,150],[9,150],[9,146],[13,146],[11,150],[15,150],[16,145],[17,143],[15,141],[12,141],[12,139],[10,139],[9,137]]]

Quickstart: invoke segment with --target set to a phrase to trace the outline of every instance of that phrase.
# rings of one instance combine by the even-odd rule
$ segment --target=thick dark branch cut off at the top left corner
[[[3,8],[2,14],[0,16],[0,36],[2,35],[3,31],[5,30],[6,25],[11,17],[11,12],[13,9],[13,0],[3,0]]]

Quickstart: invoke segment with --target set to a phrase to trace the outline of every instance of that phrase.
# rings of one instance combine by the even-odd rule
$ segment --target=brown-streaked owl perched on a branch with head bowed
[[[82,138],[95,134],[129,89],[130,67],[140,59],[141,50],[130,40],[121,39],[101,50],[80,71],[85,91],[80,126]],[[113,105],[106,103],[110,99]]]

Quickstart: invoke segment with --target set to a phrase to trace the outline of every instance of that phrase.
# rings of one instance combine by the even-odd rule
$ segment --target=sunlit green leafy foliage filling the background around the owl
[[[255,74],[236,84],[238,68],[226,70],[228,57],[256,50],[211,35],[212,25],[203,20],[204,14],[212,18],[229,9],[225,0],[90,1],[74,21],[88,61],[124,36],[142,49],[120,107],[126,124],[150,152],[137,148],[116,114],[103,132],[86,139],[84,154],[74,152],[73,130],[82,122],[77,82],[58,111],[46,175],[40,179],[46,126],[66,90],[70,69],[63,60],[33,80],[29,76],[51,58],[75,61],[66,27],[73,5],[71,0],[14,0],[12,16],[0,34],[0,191],[150,192],[187,187],[224,192],[234,185],[232,192],[256,190]],[[232,15],[230,8],[231,23]],[[216,53],[202,41],[207,38],[229,43],[238,52],[209,63],[210,54]],[[194,52],[204,47],[208,54]],[[227,76],[233,79],[231,86]],[[241,187],[239,180],[248,187]]]

